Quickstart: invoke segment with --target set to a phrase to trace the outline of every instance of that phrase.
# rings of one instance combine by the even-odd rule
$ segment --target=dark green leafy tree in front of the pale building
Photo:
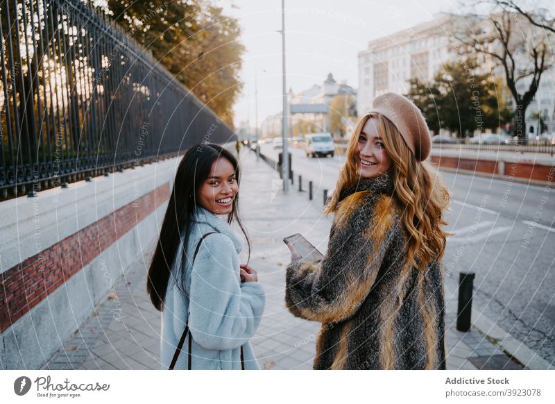
[[[410,81],[407,96],[426,118],[430,129],[456,132],[459,137],[506,124],[511,112],[503,99],[502,83],[476,72],[472,59],[443,65],[432,83]]]

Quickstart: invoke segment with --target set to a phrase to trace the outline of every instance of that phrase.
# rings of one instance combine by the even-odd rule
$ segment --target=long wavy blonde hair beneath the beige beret
[[[402,224],[409,235],[409,263],[425,269],[443,257],[447,235],[451,235],[441,228],[447,224],[443,214],[450,204],[450,195],[438,171],[429,162],[416,160],[398,129],[383,115],[370,113],[357,124],[347,147],[345,164],[324,212],[335,212],[341,190],[355,185],[359,179],[357,143],[362,128],[370,118],[378,120],[380,137],[393,162],[393,195],[402,208]]]

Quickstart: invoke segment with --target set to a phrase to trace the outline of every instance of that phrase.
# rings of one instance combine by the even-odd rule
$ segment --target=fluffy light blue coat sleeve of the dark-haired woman
[[[207,349],[237,348],[253,337],[265,296],[258,282],[241,284],[231,240],[220,233],[206,237],[191,272],[189,328]]]

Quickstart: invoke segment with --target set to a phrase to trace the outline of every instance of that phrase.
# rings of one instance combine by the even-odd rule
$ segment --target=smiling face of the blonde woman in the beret
[[[359,166],[359,176],[362,178],[377,177],[389,171],[393,165],[378,128],[379,121],[376,118],[370,118],[359,135],[355,156]]]

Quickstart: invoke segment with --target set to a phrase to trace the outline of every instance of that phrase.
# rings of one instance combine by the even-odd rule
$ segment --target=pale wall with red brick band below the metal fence
[[[111,283],[152,249],[179,162],[174,158],[0,204],[1,369],[40,369],[108,296]],[[140,212],[129,209],[135,203]],[[105,224],[112,226],[110,245],[99,243]],[[91,237],[97,228],[99,236]],[[30,262],[34,267],[26,266]],[[63,282],[46,289],[46,278],[59,274],[62,262]],[[26,275],[19,279],[19,273]],[[12,321],[11,313],[22,313],[19,306],[28,310]]]

